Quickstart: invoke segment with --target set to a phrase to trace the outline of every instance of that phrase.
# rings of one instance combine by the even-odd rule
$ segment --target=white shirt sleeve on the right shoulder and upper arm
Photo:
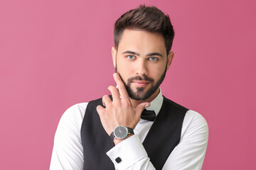
[[[206,120],[199,113],[189,110],[183,120],[181,141],[166,160],[163,170],[201,169],[207,144]]]

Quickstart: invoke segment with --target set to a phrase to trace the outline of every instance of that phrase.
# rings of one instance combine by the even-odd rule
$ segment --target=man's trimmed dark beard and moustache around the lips
[[[116,67],[116,72],[121,77],[121,79],[124,83],[125,89],[127,89],[127,93],[129,95],[129,98],[132,98],[132,99],[137,100],[137,101],[145,101],[150,96],[152,96],[154,94],[154,92],[156,92],[156,90],[159,88],[160,84],[164,81],[164,77],[166,75],[166,70],[167,70],[167,64],[166,64],[166,69],[164,70],[164,73],[161,74],[160,79],[158,81],[156,81],[156,83],[154,83],[154,79],[146,77],[145,75],[144,76],[131,77],[131,78],[127,79],[127,83],[125,83],[124,79],[122,79],[122,76],[121,76],[121,74],[119,74],[119,72],[117,70],[117,67]],[[137,87],[136,90],[133,91],[132,87],[131,87],[131,84],[132,84],[132,81],[134,81],[134,80],[149,81],[149,84],[151,84],[151,86],[146,91],[144,91],[144,89],[145,89],[144,87]]]

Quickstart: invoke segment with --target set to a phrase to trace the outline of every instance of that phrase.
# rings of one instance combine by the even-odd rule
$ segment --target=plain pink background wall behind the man
[[[203,169],[255,169],[255,1],[0,1],[0,169],[48,169],[63,112],[109,94],[114,21],[169,13],[176,54],[161,88],[209,125]]]

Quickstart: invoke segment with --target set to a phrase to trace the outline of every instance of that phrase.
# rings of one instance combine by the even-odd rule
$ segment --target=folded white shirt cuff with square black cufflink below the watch
[[[107,156],[110,157],[117,169],[127,169],[147,157],[147,154],[138,135],[132,135],[110,149]]]

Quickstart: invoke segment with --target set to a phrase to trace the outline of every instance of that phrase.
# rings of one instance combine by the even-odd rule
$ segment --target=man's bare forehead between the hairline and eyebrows
[[[151,33],[145,30],[125,29],[119,40],[118,51],[132,50],[142,55],[150,52],[159,52],[166,55],[164,37],[159,33]],[[118,53],[119,53],[118,52]]]

